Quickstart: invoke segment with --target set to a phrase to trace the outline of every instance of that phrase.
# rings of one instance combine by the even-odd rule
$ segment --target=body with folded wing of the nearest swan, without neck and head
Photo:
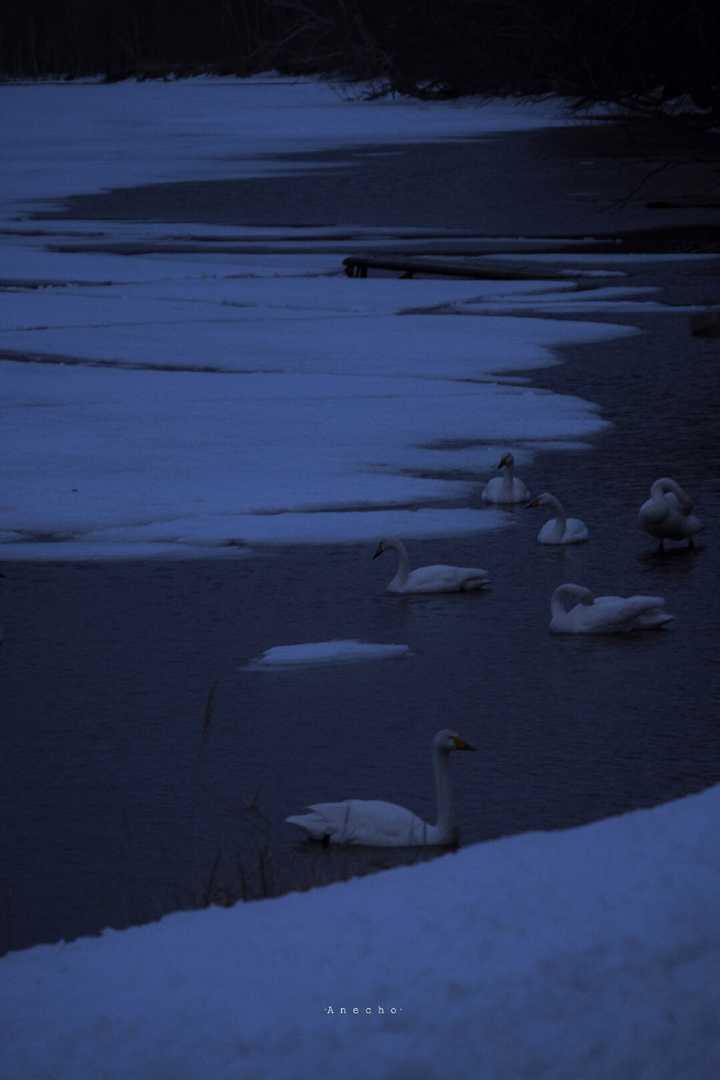
[[[347,799],[316,802],[309,812],[286,818],[313,839],[331,843],[362,843],[375,847],[406,847],[432,842],[432,826],[394,802]]]

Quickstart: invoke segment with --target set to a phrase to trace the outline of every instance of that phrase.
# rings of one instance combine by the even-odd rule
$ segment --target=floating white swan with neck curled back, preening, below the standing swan
[[[593,596],[582,585],[560,585],[551,600],[556,634],[624,634],[664,626],[673,616],[662,596]]]

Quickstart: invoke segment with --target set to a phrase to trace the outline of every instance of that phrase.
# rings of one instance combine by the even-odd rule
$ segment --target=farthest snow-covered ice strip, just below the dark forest
[[[109,187],[297,170],[276,154],[568,123],[559,99],[494,100],[483,110],[474,102],[371,102],[361,86],[283,77],[5,85],[2,104],[0,199],[26,207],[32,199]],[[312,167],[328,166],[303,164]]]

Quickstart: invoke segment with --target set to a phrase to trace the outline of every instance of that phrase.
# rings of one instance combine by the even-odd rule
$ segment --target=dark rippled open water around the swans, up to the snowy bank
[[[662,285],[666,300],[717,300],[710,262],[626,269],[628,284]],[[303,846],[283,819],[350,796],[432,816],[440,727],[480,750],[452,761],[463,842],[720,780],[720,341],[690,337],[680,314],[624,321],[643,336],[565,350],[566,364],[532,373],[614,423],[592,451],[543,453],[522,470],[592,541],[541,548],[542,516],[518,510],[494,535],[410,544],[418,565],[486,566],[486,594],[388,596],[390,562],[368,545],[4,565],[0,947],[402,861]],[[694,496],[705,546],[642,558],[637,508],[667,474]],[[628,638],[554,637],[548,598],[563,581],[658,593],[677,621]],[[342,637],[406,643],[412,656],[243,671],[271,645]]]

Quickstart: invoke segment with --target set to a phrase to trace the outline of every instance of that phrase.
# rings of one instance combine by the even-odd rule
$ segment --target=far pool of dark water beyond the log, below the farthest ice
[[[66,201],[65,216],[100,222],[452,227],[495,237],[717,225],[720,208],[702,214],[646,208],[649,201],[715,190],[707,168],[697,163],[703,153],[715,160],[714,138],[695,135],[689,145],[679,131],[628,123],[273,154],[271,162],[297,166],[307,161],[323,168],[290,177],[187,180],[82,194]],[[668,167],[658,172],[658,161]],[[637,198],[628,200],[636,189]],[[54,211],[38,215],[57,216]]]

